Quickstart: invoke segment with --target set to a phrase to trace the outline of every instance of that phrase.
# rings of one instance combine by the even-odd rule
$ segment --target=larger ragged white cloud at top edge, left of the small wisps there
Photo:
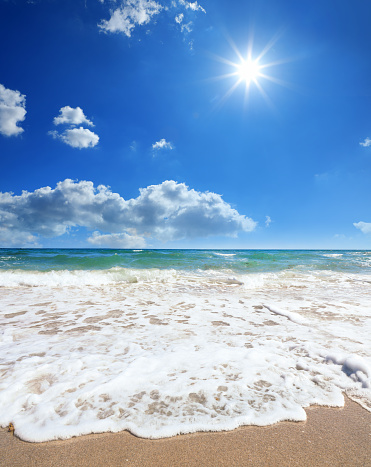
[[[111,11],[111,18],[98,25],[105,32],[122,32],[130,37],[136,25],[150,22],[160,13],[163,6],[154,0],[126,0],[119,8]]]

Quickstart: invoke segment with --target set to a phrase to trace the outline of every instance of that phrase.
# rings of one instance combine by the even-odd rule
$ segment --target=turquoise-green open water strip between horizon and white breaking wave
[[[111,268],[235,273],[328,270],[371,273],[371,251],[0,249],[0,270],[61,271]]]

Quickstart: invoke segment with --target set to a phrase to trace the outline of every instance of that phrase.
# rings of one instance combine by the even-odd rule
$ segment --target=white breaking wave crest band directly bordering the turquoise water
[[[178,283],[180,287],[243,286],[245,289],[312,288],[319,284],[369,282],[368,274],[344,271],[286,269],[236,272],[227,268],[196,270],[122,268],[94,270],[0,270],[0,287],[103,287],[115,284]]]

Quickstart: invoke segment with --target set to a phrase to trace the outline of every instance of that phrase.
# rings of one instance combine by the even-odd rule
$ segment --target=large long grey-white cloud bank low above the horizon
[[[11,235],[57,237],[71,227],[109,232],[93,234],[90,243],[129,242],[141,237],[160,241],[211,235],[236,236],[254,230],[256,222],[239,214],[216,193],[198,192],[172,180],[140,189],[125,200],[109,187],[66,179],[56,188],[43,187],[21,195],[0,193],[0,225]],[[126,235],[107,237],[110,234]]]

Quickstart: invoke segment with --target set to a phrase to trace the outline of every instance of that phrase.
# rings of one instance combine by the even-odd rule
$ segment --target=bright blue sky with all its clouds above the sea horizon
[[[0,0],[0,246],[371,248],[370,18]]]

